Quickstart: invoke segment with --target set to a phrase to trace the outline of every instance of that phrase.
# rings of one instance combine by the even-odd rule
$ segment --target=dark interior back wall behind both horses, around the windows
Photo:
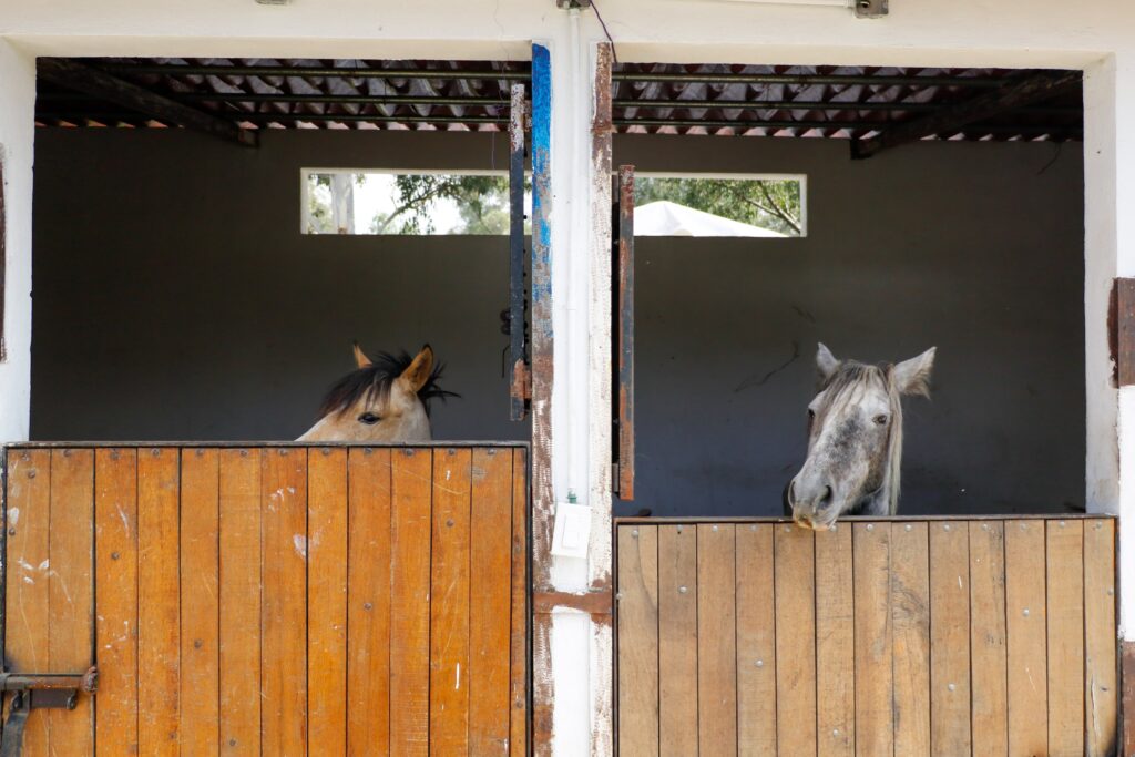
[[[34,439],[286,439],[350,344],[430,342],[463,398],[438,438],[507,421],[504,237],[306,237],[300,168],[503,168],[487,135],[174,131],[36,135]],[[903,512],[1083,502],[1078,145],[619,136],[640,170],[800,173],[798,239],[638,242],[638,499],[776,514],[805,449],[817,340],[891,361],[939,347],[907,403]]]

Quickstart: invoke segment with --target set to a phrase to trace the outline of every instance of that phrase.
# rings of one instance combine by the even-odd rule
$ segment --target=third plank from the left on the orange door
[[[94,592],[99,598],[100,755],[138,750],[137,451],[101,448],[94,456]]]

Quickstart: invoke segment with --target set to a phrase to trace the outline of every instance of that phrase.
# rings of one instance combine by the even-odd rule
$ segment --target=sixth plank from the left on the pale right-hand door
[[[835,525],[815,536],[816,745],[821,757],[855,754],[858,605],[851,531],[848,525]]]

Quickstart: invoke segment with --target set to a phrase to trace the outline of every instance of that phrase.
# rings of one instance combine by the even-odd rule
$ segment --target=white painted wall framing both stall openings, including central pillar
[[[1107,361],[1102,284],[1118,274],[1135,274],[1135,219],[1119,209],[1135,199],[1135,3],[1117,0],[892,0],[891,15],[857,20],[840,8],[766,6],[718,0],[616,0],[600,2],[623,60],[698,62],[847,64],[907,66],[1058,66],[1087,67],[1085,150],[1096,155],[1087,180],[1087,380],[1091,507],[1135,519],[1135,390],[1118,393],[1102,379]],[[25,53],[61,56],[287,56],[287,57],[527,57],[530,40],[546,40],[555,66],[553,135],[553,306],[557,325],[569,325],[568,344],[557,344],[556,407],[553,414],[556,496],[566,488],[580,494],[598,476],[588,453],[590,422],[606,417],[605,399],[592,395],[585,376],[587,353],[597,345],[581,339],[588,322],[590,292],[586,213],[578,183],[586,174],[578,149],[564,129],[581,116],[565,112],[568,102],[589,103],[591,81],[580,76],[599,31],[590,14],[578,41],[568,14],[553,0],[293,0],[291,6],[260,6],[253,0],[0,0],[0,37]],[[575,61],[575,62],[572,62]],[[1102,61],[1102,62],[1101,62]],[[1113,66],[1113,75],[1112,67]],[[0,143],[9,169],[9,365],[0,367],[0,434],[26,432],[28,255],[31,228],[31,85],[26,54],[0,47]],[[572,89],[575,93],[569,95]],[[1113,95],[1113,98],[1112,98]],[[1113,103],[1113,104],[1112,104]],[[573,106],[579,108],[580,106]],[[569,180],[564,171],[575,171]],[[1098,205],[1093,203],[1099,203]],[[568,220],[571,219],[571,220]],[[570,229],[570,230],[569,230]],[[580,267],[577,267],[580,266]],[[15,294],[12,294],[15,293]],[[588,331],[585,331],[587,334]],[[558,330],[557,334],[565,334]],[[572,334],[575,334],[573,337]],[[578,361],[578,362],[577,362]],[[592,367],[594,368],[594,367]],[[589,420],[590,419],[590,420]],[[1126,439],[1126,440],[1125,440]],[[582,479],[582,480],[577,480]],[[600,503],[591,503],[600,505]],[[1125,633],[1135,638],[1135,532],[1123,529],[1125,555],[1123,605]],[[557,570],[557,583],[573,586],[580,566]],[[556,623],[556,754],[585,754],[587,734],[602,722],[605,690],[590,675],[602,667],[602,634],[585,639],[589,623],[578,617]],[[561,637],[561,632],[563,636]],[[580,657],[590,659],[585,665]],[[588,673],[582,673],[587,668]],[[597,693],[596,693],[597,692]],[[590,704],[589,704],[590,700]],[[598,713],[594,718],[592,710]]]

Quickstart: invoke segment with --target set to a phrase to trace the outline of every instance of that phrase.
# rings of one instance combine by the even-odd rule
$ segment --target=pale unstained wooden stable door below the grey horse
[[[622,755],[1115,754],[1113,519],[615,532]]]

